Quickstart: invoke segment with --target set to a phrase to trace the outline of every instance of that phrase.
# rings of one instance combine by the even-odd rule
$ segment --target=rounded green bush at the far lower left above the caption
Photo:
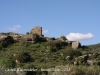
[[[4,68],[15,68],[15,61],[10,58],[0,59],[0,66]]]

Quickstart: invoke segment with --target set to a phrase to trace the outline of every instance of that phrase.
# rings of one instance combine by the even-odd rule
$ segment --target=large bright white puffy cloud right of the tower
[[[93,38],[94,35],[91,33],[81,34],[81,33],[70,33],[66,36],[69,41],[80,41]]]

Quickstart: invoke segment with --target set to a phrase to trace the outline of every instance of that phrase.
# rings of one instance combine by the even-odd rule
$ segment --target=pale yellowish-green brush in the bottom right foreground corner
[[[50,75],[100,75],[100,66],[58,66],[57,69],[62,69],[66,71],[54,71]]]

